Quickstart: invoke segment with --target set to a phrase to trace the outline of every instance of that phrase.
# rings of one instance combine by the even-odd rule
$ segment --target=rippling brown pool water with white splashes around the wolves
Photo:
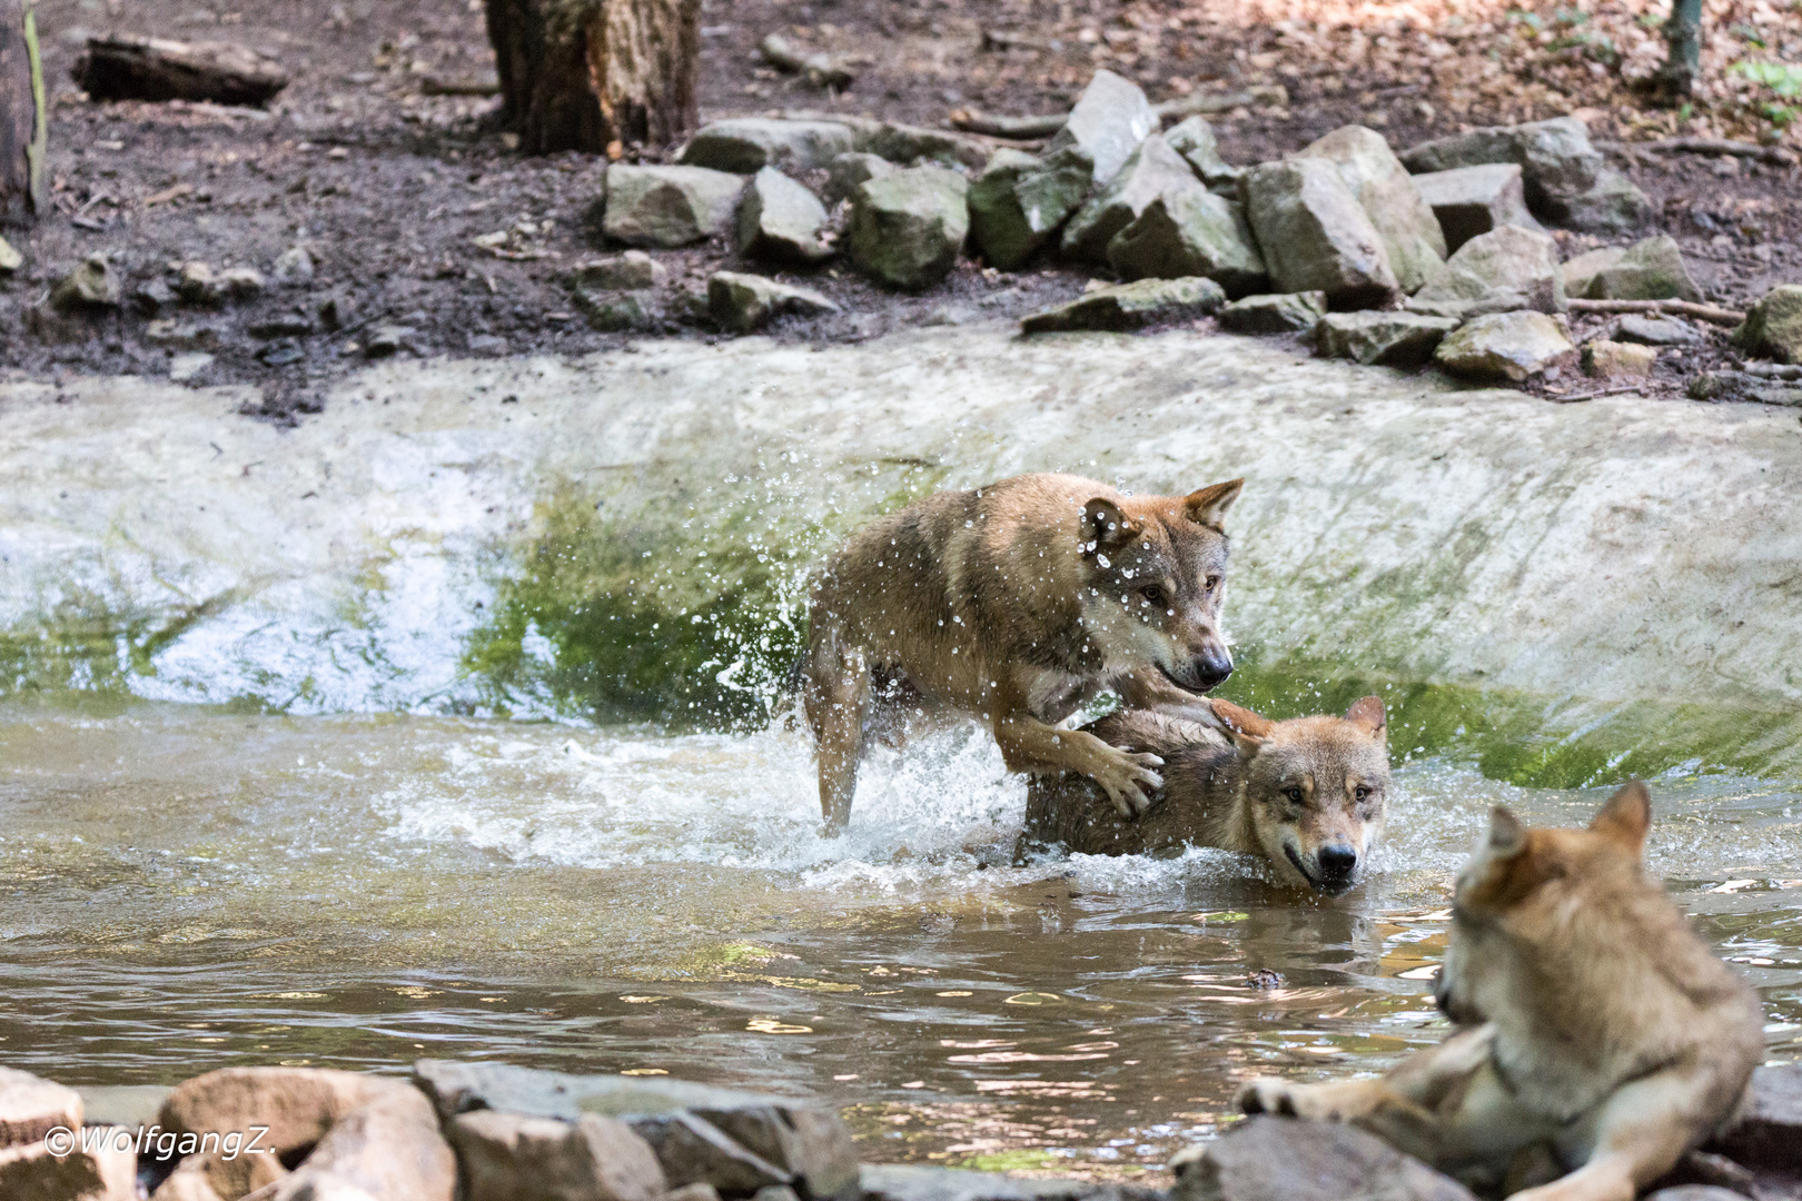
[[[416,1055],[669,1071],[847,1106],[874,1160],[1142,1170],[1251,1073],[1433,1043],[1451,873],[1505,801],[1397,771],[1321,902],[1220,852],[1013,864],[1024,785],[953,731],[816,835],[802,736],[178,706],[0,708],[0,1062],[173,1082]],[[1654,781],[1651,859],[1802,1053],[1802,792]]]

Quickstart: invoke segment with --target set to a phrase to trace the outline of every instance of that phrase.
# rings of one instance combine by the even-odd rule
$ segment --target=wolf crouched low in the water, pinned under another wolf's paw
[[[1087,780],[1027,787],[1022,850],[1063,844],[1085,855],[1218,846],[1270,861],[1299,888],[1342,893],[1364,877],[1389,807],[1388,718],[1380,697],[1344,717],[1272,722],[1207,700],[1220,727],[1121,709],[1088,729],[1164,760],[1164,789],[1137,821],[1097,805]]]

